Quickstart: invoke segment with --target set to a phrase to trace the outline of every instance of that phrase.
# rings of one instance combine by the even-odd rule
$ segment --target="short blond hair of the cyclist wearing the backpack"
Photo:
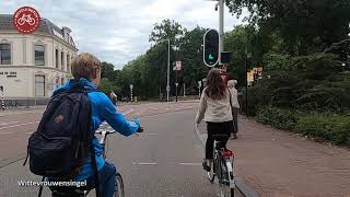
[[[90,79],[94,69],[101,69],[101,61],[95,56],[83,53],[73,59],[71,68],[74,79]]]

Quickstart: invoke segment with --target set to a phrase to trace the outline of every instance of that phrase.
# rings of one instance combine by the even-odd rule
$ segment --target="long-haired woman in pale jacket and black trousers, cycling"
[[[207,77],[207,86],[205,88],[196,116],[196,123],[200,124],[202,119],[207,123],[208,138],[206,142],[206,161],[203,166],[210,171],[210,160],[213,159],[213,135],[226,135],[222,140],[226,144],[233,128],[232,107],[238,107],[237,97],[230,93],[228,85],[221,78],[221,71],[212,69]]]

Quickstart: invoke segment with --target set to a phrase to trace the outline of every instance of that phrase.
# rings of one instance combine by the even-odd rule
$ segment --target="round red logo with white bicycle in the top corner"
[[[13,25],[22,34],[33,33],[39,23],[39,13],[31,7],[22,7],[13,14]]]

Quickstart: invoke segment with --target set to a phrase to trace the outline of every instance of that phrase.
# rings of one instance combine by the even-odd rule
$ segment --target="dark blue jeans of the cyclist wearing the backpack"
[[[115,196],[117,170],[114,164],[105,162],[105,165],[98,171],[98,183],[101,197]],[[95,187],[95,175],[90,176],[86,179],[86,186],[89,188]]]

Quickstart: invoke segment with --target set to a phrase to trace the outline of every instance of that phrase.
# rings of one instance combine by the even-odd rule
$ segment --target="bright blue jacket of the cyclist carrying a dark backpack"
[[[96,88],[84,78],[80,80],[70,80],[62,86],[58,88],[58,90],[69,90],[72,85],[77,83],[82,83],[84,89],[96,91]],[[100,125],[103,121],[107,121],[112,128],[124,136],[133,135],[138,128],[140,127],[140,121],[138,119],[132,119],[128,121],[122,114],[117,113],[116,106],[110,102],[110,100],[102,92],[90,92],[88,96],[91,101],[92,108],[92,123],[91,127],[95,132]],[[98,171],[104,166],[105,161],[103,160],[103,147],[100,146],[97,138],[95,137],[93,140],[95,155],[96,155],[96,165]],[[86,163],[82,166],[81,171],[75,177],[75,181],[84,181],[88,177],[94,174],[94,170],[92,167],[91,158],[88,159]]]

